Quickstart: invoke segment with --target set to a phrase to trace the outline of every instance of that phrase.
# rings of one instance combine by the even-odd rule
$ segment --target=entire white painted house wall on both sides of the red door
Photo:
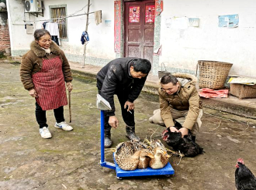
[[[26,34],[23,20],[30,20],[35,29],[40,29],[38,20],[50,19],[50,5],[67,5],[67,15],[87,11],[87,0],[44,0],[44,17],[25,14],[22,0],[7,0],[12,50],[29,49],[32,34]],[[115,59],[114,52],[114,1],[91,0],[90,12],[102,10],[102,23],[95,25],[94,14],[89,15],[88,34],[90,42],[86,56]],[[195,71],[200,59],[233,63],[230,74],[255,76],[256,73],[256,2],[254,0],[164,0],[161,13],[160,64],[182,70]],[[218,15],[239,15],[239,27],[218,27]],[[166,19],[174,16],[199,18],[199,27],[187,29],[167,28]],[[85,30],[85,15],[67,19],[68,40],[62,41],[65,53],[82,56],[81,32]],[[107,26],[105,20],[111,20]],[[28,22],[26,22],[28,23]]]

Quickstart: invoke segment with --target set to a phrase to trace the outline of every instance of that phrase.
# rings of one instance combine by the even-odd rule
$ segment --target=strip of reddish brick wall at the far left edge
[[[0,12],[0,51],[5,52],[5,48],[10,47],[10,36],[7,22],[7,12]]]

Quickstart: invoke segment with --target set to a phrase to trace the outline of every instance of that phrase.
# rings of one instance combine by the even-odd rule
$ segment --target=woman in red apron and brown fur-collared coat
[[[35,40],[30,50],[22,56],[20,76],[29,95],[36,99],[36,121],[40,126],[40,135],[50,138],[46,111],[54,110],[54,127],[71,131],[73,127],[65,123],[64,109],[67,105],[67,90],[73,89],[71,69],[64,52],[51,41],[50,32],[36,29]]]

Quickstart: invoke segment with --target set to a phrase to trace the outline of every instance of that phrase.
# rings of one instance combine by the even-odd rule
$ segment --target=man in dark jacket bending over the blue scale
[[[105,147],[112,145],[111,127],[116,128],[119,124],[115,116],[114,94],[121,105],[123,120],[126,123],[126,137],[140,141],[135,134],[133,101],[139,97],[150,69],[151,63],[147,59],[126,57],[112,60],[97,73],[99,94],[112,108],[105,111]]]

